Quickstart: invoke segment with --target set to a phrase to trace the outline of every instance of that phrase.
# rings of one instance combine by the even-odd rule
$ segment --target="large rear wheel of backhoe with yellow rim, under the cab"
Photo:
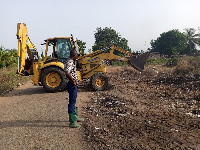
[[[65,78],[62,69],[58,67],[48,67],[42,71],[41,83],[47,92],[58,92],[65,87]]]

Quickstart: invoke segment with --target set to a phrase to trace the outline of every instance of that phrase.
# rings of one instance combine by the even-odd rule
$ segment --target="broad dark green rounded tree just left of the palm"
[[[160,34],[156,40],[151,40],[151,52],[159,52],[164,55],[179,54],[187,46],[186,36],[177,29]]]

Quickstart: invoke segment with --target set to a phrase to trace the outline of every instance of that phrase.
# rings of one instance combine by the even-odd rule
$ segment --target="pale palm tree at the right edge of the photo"
[[[196,33],[196,30],[194,28],[186,28],[184,30],[189,49],[188,53],[194,53],[197,51],[196,46],[200,46],[200,34]]]

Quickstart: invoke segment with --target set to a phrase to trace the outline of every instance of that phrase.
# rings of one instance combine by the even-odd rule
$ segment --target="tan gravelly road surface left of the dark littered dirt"
[[[46,93],[31,82],[0,97],[0,150],[82,150],[82,128],[69,128],[67,101],[66,92]]]

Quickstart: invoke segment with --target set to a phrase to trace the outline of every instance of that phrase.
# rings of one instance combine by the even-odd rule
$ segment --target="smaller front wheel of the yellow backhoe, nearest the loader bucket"
[[[95,91],[103,91],[108,86],[108,77],[102,72],[97,72],[90,78],[90,85]]]

